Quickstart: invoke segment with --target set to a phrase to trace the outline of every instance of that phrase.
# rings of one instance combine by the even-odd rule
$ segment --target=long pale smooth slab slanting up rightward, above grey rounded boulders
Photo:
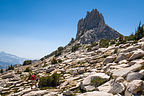
[[[118,70],[113,71],[113,78],[116,77],[125,77],[128,73],[132,72],[132,71],[137,71],[140,70],[142,67],[141,64],[134,64],[131,67],[127,67],[127,68],[120,68]]]

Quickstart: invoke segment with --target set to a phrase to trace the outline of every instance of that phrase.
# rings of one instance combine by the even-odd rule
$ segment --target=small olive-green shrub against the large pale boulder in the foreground
[[[95,87],[98,87],[106,82],[105,79],[96,77],[93,80],[91,80],[91,85],[94,85]]]

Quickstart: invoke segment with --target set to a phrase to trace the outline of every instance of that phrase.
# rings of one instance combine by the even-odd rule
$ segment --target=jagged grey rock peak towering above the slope
[[[79,20],[76,39],[82,44],[89,44],[102,38],[116,39],[119,33],[105,24],[104,17],[97,9],[87,12],[84,19]]]

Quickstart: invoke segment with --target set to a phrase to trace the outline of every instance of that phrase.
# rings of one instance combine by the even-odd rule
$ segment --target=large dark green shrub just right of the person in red
[[[60,84],[60,75],[57,73],[51,76],[41,77],[38,86],[42,87],[56,87]]]

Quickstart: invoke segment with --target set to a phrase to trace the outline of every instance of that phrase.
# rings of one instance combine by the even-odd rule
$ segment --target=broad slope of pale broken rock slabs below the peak
[[[52,56],[32,65],[21,66],[1,74],[1,93],[9,94],[8,96],[144,95],[144,38],[135,44],[127,43],[119,46],[114,44],[108,48],[98,49],[95,46],[89,52],[86,46],[88,45],[82,45],[75,52],[67,52],[58,56],[57,59],[61,59],[62,63],[52,65]],[[117,52],[115,49],[118,49]],[[26,67],[30,67],[40,77],[54,72],[63,74],[63,83],[52,89],[31,89],[31,80],[26,80],[29,73],[24,72]],[[97,83],[92,83],[97,79]]]

